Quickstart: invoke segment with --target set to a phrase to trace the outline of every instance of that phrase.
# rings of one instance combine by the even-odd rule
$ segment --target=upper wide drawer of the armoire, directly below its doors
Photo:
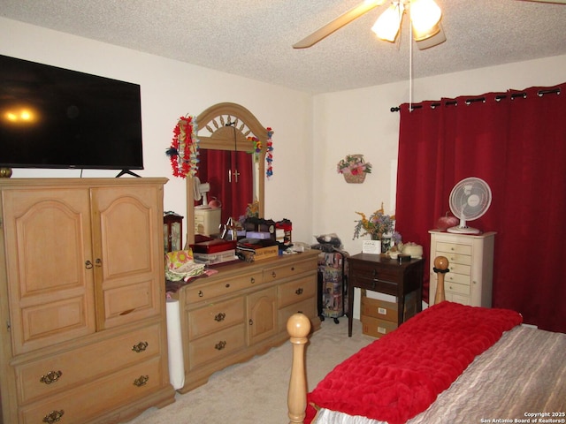
[[[160,337],[161,327],[156,324],[42,360],[16,365],[19,402],[24,405],[69,386],[75,387],[80,382],[148,360],[160,353]]]

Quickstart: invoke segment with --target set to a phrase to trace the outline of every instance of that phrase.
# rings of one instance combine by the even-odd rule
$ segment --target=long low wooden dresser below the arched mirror
[[[218,274],[174,293],[180,301],[185,367],[179,391],[193,390],[216,371],[287,341],[287,319],[296,312],[319,329],[318,253],[219,266]]]

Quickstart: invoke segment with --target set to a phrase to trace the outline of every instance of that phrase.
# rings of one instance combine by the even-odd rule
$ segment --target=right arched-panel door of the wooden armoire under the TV
[[[109,329],[161,313],[155,267],[163,263],[162,189],[92,189],[98,328]],[[158,223],[158,225],[157,225]]]

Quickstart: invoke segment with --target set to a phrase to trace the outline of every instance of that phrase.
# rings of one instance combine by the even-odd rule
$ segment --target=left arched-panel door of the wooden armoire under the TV
[[[4,190],[14,354],[96,331],[88,190]]]

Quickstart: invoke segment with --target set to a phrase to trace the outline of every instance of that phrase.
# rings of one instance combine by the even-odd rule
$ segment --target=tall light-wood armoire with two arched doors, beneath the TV
[[[0,180],[4,423],[122,422],[174,401],[165,182]]]

